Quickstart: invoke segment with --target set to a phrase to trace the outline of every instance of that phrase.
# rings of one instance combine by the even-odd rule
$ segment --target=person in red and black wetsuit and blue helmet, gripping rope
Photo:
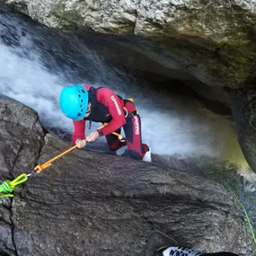
[[[67,86],[59,96],[59,105],[67,118],[73,119],[72,142],[78,148],[98,137],[105,136],[110,150],[126,146],[130,157],[151,162],[150,147],[142,143],[141,120],[133,102],[123,99],[107,87],[94,88],[89,84]],[[105,124],[85,137],[85,123]],[[126,140],[118,137],[124,129]]]

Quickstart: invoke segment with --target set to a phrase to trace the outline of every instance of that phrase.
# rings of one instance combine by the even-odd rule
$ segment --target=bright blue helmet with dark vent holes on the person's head
[[[67,118],[83,119],[88,106],[87,90],[81,84],[64,88],[59,95],[59,106]]]

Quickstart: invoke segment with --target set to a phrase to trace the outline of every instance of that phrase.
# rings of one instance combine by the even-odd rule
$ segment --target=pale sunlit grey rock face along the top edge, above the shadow
[[[253,1],[28,1],[2,0],[15,6],[50,27],[64,28],[72,25],[87,26],[95,31],[135,34],[180,34],[200,36],[229,42],[234,34],[228,31],[242,28],[238,18],[243,13],[252,22],[256,4]],[[240,8],[239,12],[236,10]],[[215,10],[215,11],[214,11]],[[214,12],[213,12],[214,11]],[[236,12],[234,12],[236,11]],[[225,14],[228,16],[225,17]],[[216,16],[217,15],[217,16]],[[232,19],[229,19],[232,18]],[[188,22],[190,19],[190,22]],[[233,26],[230,26],[230,25]],[[243,36],[243,35],[241,35]],[[237,35],[236,35],[237,37]]]

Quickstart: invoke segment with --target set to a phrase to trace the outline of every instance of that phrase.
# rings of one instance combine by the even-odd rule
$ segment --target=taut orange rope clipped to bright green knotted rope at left
[[[16,179],[14,179],[13,181],[3,181],[2,184],[0,184],[0,199],[1,198],[13,198],[13,190],[15,189],[15,187],[19,184],[22,184],[23,182],[27,181],[28,178],[35,172],[39,173],[42,172],[42,170],[46,169],[47,167],[49,167],[51,165],[51,163],[55,160],[57,160],[57,158],[61,157],[62,155],[72,151],[73,149],[75,149],[77,146],[72,146],[69,149],[67,149],[66,151],[64,151],[61,154],[57,154],[57,156],[51,158],[48,162],[43,163],[41,165],[37,165],[31,172],[29,172],[28,174],[26,173],[22,173],[21,175],[19,175]]]

